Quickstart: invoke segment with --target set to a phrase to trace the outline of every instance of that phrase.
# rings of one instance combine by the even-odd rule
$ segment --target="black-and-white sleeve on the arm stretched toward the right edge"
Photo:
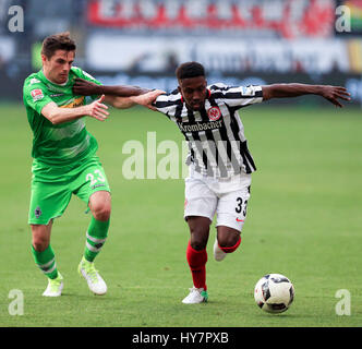
[[[215,99],[222,99],[228,106],[234,108],[263,101],[262,86],[227,86],[224,84],[215,84],[209,88]]]

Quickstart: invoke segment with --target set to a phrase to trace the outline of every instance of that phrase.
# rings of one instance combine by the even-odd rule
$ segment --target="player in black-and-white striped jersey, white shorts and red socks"
[[[198,62],[181,64],[176,74],[178,89],[159,95],[152,105],[143,101],[142,96],[136,103],[165,113],[179,127],[189,144],[190,176],[185,179],[184,219],[190,228],[186,260],[193,287],[182,302],[193,304],[208,299],[206,245],[215,215],[215,260],[222,261],[241,243],[251,173],[256,167],[238,110],[270,98],[307,94],[321,95],[336,107],[342,107],[339,98],[350,98],[346,88],[339,86],[274,84],[234,87],[222,83],[208,86],[204,67]],[[85,95],[120,95],[122,92],[122,86],[97,86],[81,80],[76,81],[74,88],[77,94]],[[130,101],[129,106],[132,105]]]

